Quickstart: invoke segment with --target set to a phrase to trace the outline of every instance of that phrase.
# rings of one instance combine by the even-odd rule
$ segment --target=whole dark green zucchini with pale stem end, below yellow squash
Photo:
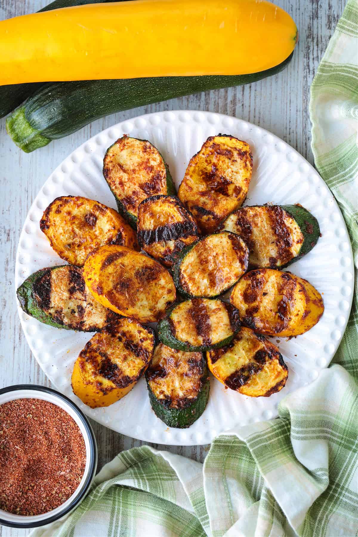
[[[108,114],[191,93],[251,84],[282,71],[292,56],[293,52],[278,66],[249,75],[170,76],[46,84],[9,116],[6,128],[17,146],[30,153]],[[19,114],[24,121],[15,121]]]

